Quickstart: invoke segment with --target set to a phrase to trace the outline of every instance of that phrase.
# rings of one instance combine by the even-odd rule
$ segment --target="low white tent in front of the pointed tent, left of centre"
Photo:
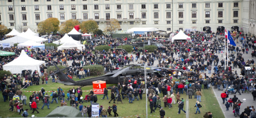
[[[82,50],[85,47],[83,44],[78,44],[76,42],[66,42],[63,45],[61,45],[60,47],[58,47],[58,50],[72,49],[72,48]]]

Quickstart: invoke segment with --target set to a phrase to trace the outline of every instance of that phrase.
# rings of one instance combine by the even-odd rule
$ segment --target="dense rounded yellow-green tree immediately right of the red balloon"
[[[94,20],[87,20],[82,22],[80,29],[83,33],[93,33],[99,28],[97,22]]]

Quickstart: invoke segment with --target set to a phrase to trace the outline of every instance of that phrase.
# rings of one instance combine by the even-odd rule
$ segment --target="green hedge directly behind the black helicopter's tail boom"
[[[91,76],[97,76],[104,74],[104,67],[103,66],[83,66],[84,70],[90,69]]]

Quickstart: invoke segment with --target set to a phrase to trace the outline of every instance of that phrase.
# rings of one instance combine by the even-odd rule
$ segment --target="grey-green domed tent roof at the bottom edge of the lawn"
[[[74,107],[57,107],[46,117],[82,117],[81,112]]]

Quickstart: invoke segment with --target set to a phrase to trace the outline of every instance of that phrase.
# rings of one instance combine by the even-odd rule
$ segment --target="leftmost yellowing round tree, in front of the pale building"
[[[38,26],[38,33],[45,35],[46,33],[50,34],[52,31],[54,31],[54,26],[52,25],[52,22],[49,22],[49,20],[44,20],[42,22],[39,22]]]

